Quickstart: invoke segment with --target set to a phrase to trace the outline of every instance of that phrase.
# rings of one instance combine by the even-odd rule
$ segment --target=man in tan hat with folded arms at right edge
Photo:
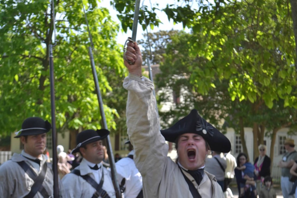
[[[282,160],[279,161],[278,166],[282,168],[282,177],[280,180],[281,188],[282,188],[282,195],[284,198],[289,197],[289,193],[292,190],[293,182],[290,179],[290,168],[293,166],[294,162],[297,160],[297,152],[294,149],[295,144],[294,140],[287,138],[284,142],[285,149],[288,151],[282,157]]]

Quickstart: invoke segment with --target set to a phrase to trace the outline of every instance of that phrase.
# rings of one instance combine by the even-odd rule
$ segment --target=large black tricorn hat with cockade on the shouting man
[[[204,120],[196,109],[189,115],[176,122],[172,127],[161,130],[168,142],[175,142],[184,133],[195,133],[203,137],[213,151],[228,153],[231,150],[229,139],[213,125]]]

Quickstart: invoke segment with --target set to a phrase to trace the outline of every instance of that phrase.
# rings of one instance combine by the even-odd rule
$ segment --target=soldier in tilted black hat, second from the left
[[[77,146],[71,153],[80,152],[83,160],[62,179],[66,198],[116,197],[111,174],[101,163],[104,156],[102,140],[108,134],[106,129],[89,129],[78,133]]]

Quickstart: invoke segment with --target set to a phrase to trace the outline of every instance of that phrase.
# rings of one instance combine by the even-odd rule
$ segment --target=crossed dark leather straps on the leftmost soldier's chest
[[[45,198],[50,197],[48,192],[42,186],[42,183],[45,178],[46,170],[48,168],[47,166],[48,164],[47,163],[43,164],[42,170],[37,176],[36,173],[30,168],[30,166],[25,161],[20,161],[17,163],[24,169],[24,171],[29,175],[29,177],[31,177],[31,179],[34,180],[34,184],[31,186],[31,191],[24,198],[33,198],[37,193],[37,191],[39,191],[40,194]]]

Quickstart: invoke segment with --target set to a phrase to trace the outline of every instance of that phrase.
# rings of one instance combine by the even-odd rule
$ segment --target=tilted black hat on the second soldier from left
[[[71,151],[71,153],[77,153],[79,152],[79,148],[89,144],[91,142],[96,142],[98,140],[102,140],[106,138],[109,134],[109,131],[107,129],[97,129],[97,131],[94,131],[93,129],[88,129],[85,131],[82,131],[78,133],[76,137],[76,147]]]

